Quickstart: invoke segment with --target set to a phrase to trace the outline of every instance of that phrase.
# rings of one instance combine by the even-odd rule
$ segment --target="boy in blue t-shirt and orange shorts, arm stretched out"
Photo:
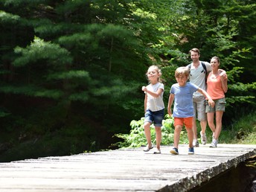
[[[199,92],[208,98],[208,104],[214,107],[214,101],[205,90],[199,88],[193,83],[187,82],[190,74],[188,67],[179,67],[175,71],[175,78],[177,83],[173,84],[170,88],[170,96],[168,100],[168,114],[174,118],[174,144],[173,150],[170,153],[174,155],[179,154],[178,145],[180,132],[182,131],[183,124],[188,132],[189,148],[188,154],[193,154],[193,92]],[[171,106],[173,104],[173,112]]]

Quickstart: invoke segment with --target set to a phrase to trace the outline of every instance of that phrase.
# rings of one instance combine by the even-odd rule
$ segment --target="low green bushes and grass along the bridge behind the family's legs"
[[[174,126],[173,118],[169,115],[165,116],[163,120],[163,126],[161,127],[162,140],[161,145],[173,144]],[[122,141],[118,141],[113,146],[118,145],[118,147],[141,147],[147,144],[147,140],[144,136],[144,118],[138,121],[132,120],[130,123],[131,130],[129,134],[115,134],[116,137],[122,138]],[[197,123],[199,127],[199,123]],[[154,126],[151,125],[151,139],[153,143],[156,144],[156,136],[154,131]],[[199,135],[199,129],[197,130]],[[234,124],[229,127],[223,127],[220,134],[219,143],[220,144],[256,144],[256,113],[252,112],[249,115],[243,115]],[[206,135],[208,138],[208,143],[211,142],[211,129],[207,127]],[[199,140],[199,138],[198,138]],[[188,144],[188,138],[186,131],[183,129],[181,132],[181,138],[179,144]]]

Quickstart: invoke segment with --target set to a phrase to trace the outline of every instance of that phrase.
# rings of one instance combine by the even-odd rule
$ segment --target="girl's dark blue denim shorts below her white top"
[[[154,122],[155,127],[161,127],[161,121],[164,119],[164,109],[161,109],[156,112],[152,112],[149,109],[145,112],[144,123],[150,122],[152,124]]]

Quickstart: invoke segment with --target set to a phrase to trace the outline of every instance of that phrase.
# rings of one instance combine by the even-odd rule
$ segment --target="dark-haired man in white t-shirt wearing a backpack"
[[[200,51],[198,48],[192,48],[189,51],[191,54],[191,64],[187,65],[191,69],[190,82],[199,86],[199,88],[206,90],[206,79],[207,74],[211,71],[211,64],[208,62],[202,62],[199,60]],[[196,118],[200,121],[201,126],[201,143],[206,144],[207,138],[205,134],[205,129],[207,126],[207,116],[205,113],[205,97],[199,92],[193,93],[193,147],[199,147],[199,142],[197,141],[197,131],[196,131]]]

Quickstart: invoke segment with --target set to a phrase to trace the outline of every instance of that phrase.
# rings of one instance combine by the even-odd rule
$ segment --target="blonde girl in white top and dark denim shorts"
[[[151,65],[147,70],[147,78],[150,82],[147,86],[142,86],[142,91],[145,93],[144,98],[144,133],[147,138],[147,147],[144,151],[147,152],[153,149],[150,135],[150,125],[154,122],[156,129],[156,150],[155,154],[161,153],[161,121],[164,118],[164,84],[160,83],[161,70],[156,65]]]

